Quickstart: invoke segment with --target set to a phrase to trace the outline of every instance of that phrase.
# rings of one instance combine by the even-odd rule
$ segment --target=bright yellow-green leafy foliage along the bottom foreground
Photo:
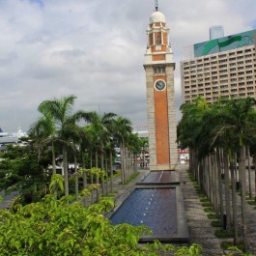
[[[110,198],[84,208],[71,197],[56,200],[46,195],[42,202],[17,206],[16,213],[0,211],[1,255],[160,255],[174,250],[155,242],[138,246],[147,227],[112,226],[104,213],[113,208]],[[178,249],[176,255],[201,255],[200,247]]]

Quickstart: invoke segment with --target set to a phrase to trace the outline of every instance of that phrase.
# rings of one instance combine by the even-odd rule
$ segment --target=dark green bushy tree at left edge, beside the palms
[[[44,158],[39,161],[29,146],[11,146],[1,157],[0,190],[6,193],[18,190],[23,203],[38,201],[45,195],[44,188],[50,177],[43,171]]]

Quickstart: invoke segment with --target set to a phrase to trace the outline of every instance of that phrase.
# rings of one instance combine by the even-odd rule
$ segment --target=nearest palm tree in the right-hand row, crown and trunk
[[[255,100],[251,98],[240,100],[228,100],[217,117],[218,126],[215,129],[217,135],[225,135],[226,145],[235,152],[240,152],[240,179],[242,199],[242,236],[243,249],[247,250],[246,234],[246,201],[245,201],[245,142],[246,137],[254,136],[256,128],[256,115],[253,106]],[[233,157],[233,156],[232,156]],[[232,159],[232,157],[230,157]],[[234,187],[235,189],[235,187]]]

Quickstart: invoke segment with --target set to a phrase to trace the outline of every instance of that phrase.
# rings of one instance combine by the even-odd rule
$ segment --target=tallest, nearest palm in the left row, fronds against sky
[[[73,113],[72,107],[75,99],[76,97],[71,95],[61,99],[43,100],[39,106],[42,113],[53,118],[58,138],[62,141],[65,195],[69,195],[68,147],[73,135],[72,130],[77,126],[76,122],[82,119],[87,121],[90,117],[90,113],[82,110]]]

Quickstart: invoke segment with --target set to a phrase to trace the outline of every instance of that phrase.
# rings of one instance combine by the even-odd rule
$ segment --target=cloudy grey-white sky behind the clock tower
[[[158,0],[176,62],[184,46],[256,28],[255,0]],[[43,100],[77,97],[75,109],[115,112],[147,125],[146,29],[155,0],[0,0],[0,128],[26,131]],[[178,112],[179,119],[179,112]]]

